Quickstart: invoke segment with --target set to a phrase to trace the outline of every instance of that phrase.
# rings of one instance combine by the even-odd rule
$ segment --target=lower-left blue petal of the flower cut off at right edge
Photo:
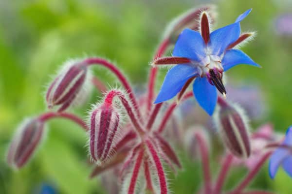
[[[278,148],[274,151],[269,162],[269,175],[274,178],[279,166],[285,158],[289,157],[289,150],[286,148]]]

